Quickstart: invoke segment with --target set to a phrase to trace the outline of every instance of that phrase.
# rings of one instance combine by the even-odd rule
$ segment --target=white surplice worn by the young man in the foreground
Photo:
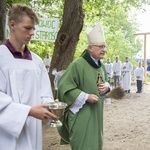
[[[42,150],[42,122],[28,116],[31,106],[53,101],[42,59],[15,59],[0,46],[0,149]]]

